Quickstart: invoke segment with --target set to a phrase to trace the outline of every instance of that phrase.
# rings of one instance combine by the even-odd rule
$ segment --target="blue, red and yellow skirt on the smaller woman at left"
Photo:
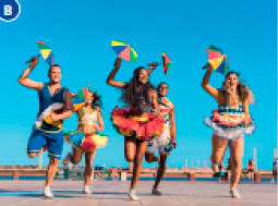
[[[63,134],[64,140],[82,152],[93,152],[107,145],[108,136],[99,133],[85,134],[70,131]]]

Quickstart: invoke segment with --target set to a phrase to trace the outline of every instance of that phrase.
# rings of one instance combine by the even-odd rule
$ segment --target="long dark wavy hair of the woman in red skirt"
[[[126,86],[122,90],[121,100],[129,105],[130,107],[144,109],[150,105],[150,100],[148,98],[149,89],[154,88],[154,86],[147,82],[146,84],[140,83],[140,72],[141,70],[145,70],[143,66],[137,68],[133,72],[133,77],[126,84]]]

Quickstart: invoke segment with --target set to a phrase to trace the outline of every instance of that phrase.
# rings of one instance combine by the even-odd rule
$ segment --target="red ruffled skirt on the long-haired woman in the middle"
[[[131,116],[128,108],[116,107],[111,112],[111,120],[116,131],[124,136],[137,140],[150,140],[160,136],[164,132],[165,120],[162,116],[147,118]]]

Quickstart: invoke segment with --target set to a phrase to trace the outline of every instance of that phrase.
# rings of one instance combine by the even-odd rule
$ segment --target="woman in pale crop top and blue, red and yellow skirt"
[[[104,119],[99,110],[101,107],[102,102],[100,96],[98,96],[96,92],[92,92],[90,88],[86,105],[82,108],[77,108],[76,105],[74,105],[74,111],[78,119],[77,131],[64,133],[65,141],[72,145],[72,153],[69,153],[63,159],[64,166],[67,166],[69,161],[78,163],[85,153],[85,182],[83,192],[86,194],[92,193],[88,183],[92,175],[96,149],[106,146],[108,141],[107,136],[97,132],[102,131],[105,128]]]

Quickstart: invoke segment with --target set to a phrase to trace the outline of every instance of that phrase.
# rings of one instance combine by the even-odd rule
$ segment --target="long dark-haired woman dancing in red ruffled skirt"
[[[134,189],[140,178],[142,161],[148,140],[159,136],[164,132],[164,118],[159,116],[157,93],[148,82],[148,71],[143,66],[133,72],[129,83],[118,82],[114,75],[121,64],[118,58],[114,69],[107,78],[107,84],[121,88],[121,100],[125,107],[116,107],[111,113],[117,131],[124,135],[124,156],[126,161],[134,161],[133,175],[130,187],[130,199],[137,201]],[[157,64],[152,64],[153,70]],[[150,109],[154,112],[150,113]]]

